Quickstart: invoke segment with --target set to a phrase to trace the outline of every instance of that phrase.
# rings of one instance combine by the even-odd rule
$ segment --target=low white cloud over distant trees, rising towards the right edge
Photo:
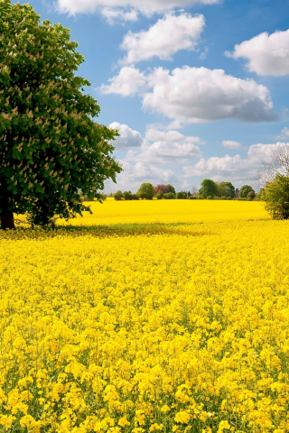
[[[280,143],[257,143],[249,147],[247,158],[235,156],[212,156],[208,160],[201,158],[192,166],[183,167],[187,177],[218,177],[218,179],[248,179],[254,176],[263,162],[269,161],[271,152]],[[289,144],[289,143],[288,143]]]

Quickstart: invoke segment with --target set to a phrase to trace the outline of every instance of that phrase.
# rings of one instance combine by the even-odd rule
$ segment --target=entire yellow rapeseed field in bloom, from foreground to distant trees
[[[289,431],[288,222],[92,206],[82,227],[0,232],[0,431]]]

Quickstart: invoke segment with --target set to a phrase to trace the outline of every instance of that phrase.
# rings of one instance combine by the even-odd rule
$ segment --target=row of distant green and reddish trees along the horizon
[[[260,195],[250,185],[244,185],[241,189],[235,189],[231,182],[215,182],[211,179],[204,179],[200,184],[200,189],[193,187],[191,191],[176,192],[171,185],[159,184],[154,187],[152,183],[144,182],[137,190],[136,194],[131,191],[118,190],[113,197],[119,200],[158,200],[166,199],[222,199],[222,200],[253,200],[259,199]]]

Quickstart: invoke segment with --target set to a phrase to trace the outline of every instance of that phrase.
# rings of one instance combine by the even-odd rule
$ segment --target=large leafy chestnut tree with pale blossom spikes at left
[[[121,168],[112,157],[117,131],[97,124],[98,102],[75,75],[84,61],[70,30],[40,22],[29,5],[0,2],[0,217],[35,224],[88,210]]]

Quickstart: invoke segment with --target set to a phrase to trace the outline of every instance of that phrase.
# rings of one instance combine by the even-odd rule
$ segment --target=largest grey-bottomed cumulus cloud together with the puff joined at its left
[[[183,124],[221,119],[270,122],[277,119],[271,95],[254,79],[226,75],[222,69],[156,68],[145,74],[134,66],[120,69],[100,91],[130,96],[138,94],[145,109]]]

